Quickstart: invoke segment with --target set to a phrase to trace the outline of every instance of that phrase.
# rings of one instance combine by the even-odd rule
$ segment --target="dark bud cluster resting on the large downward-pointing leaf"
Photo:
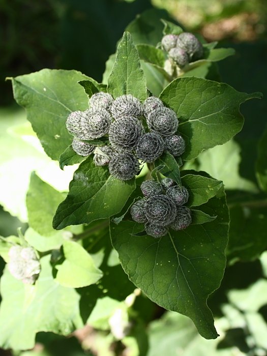
[[[144,223],[147,235],[160,238],[169,228],[178,231],[191,224],[191,211],[184,205],[189,198],[185,187],[164,178],[161,183],[144,181],[140,188],[144,197],[133,203],[131,216],[134,221]]]

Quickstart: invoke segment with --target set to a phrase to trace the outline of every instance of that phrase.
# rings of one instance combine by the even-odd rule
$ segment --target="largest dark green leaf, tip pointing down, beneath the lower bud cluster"
[[[219,287],[226,262],[229,214],[223,191],[202,209],[217,219],[201,228],[170,230],[160,239],[132,236],[142,225],[129,221],[111,224],[110,233],[130,280],[153,302],[189,316],[204,338],[214,339],[218,335],[206,300]]]

